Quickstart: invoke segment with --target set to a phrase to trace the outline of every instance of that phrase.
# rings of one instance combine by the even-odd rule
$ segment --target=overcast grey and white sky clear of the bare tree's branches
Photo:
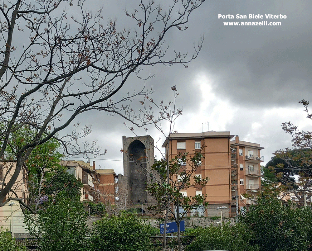
[[[155,0],[157,2],[157,0]],[[161,1],[160,1],[161,2]],[[163,1],[168,4],[170,1]],[[133,20],[124,10],[138,8],[139,1],[102,1],[107,20],[117,19],[119,27],[134,28]],[[118,3],[118,4],[116,4]],[[99,8],[98,1],[88,1],[88,7]],[[281,123],[292,121],[300,130],[310,130],[311,121],[298,101],[311,99],[312,77],[312,1],[205,1],[190,18],[187,31],[173,30],[166,42],[192,54],[193,43],[204,36],[202,51],[188,64],[144,69],[154,78],[136,78],[124,86],[124,91],[141,89],[144,84],[155,90],[153,99],[172,100],[170,87],[175,85],[179,96],[177,106],[183,115],[175,130],[183,132],[230,131],[240,140],[259,143],[265,149],[264,163],[277,149],[290,147],[290,136],[281,130]],[[234,19],[218,15],[234,15]],[[236,19],[236,14],[247,19]],[[249,19],[249,14],[263,19]],[[286,19],[267,19],[265,15],[283,15]],[[225,26],[223,22],[281,22],[280,26]],[[138,101],[133,106],[139,107]],[[81,118],[78,120],[82,121]],[[114,168],[123,173],[122,136],[133,136],[124,120],[104,113],[89,113],[82,122],[90,121],[90,140],[98,140],[104,156],[92,159],[97,168]],[[209,127],[208,123],[209,122]],[[168,130],[163,124],[164,130]],[[137,135],[145,130],[134,129]],[[154,140],[161,135],[152,126],[148,134]],[[159,146],[164,138],[160,140]],[[155,150],[155,154],[160,154]],[[86,160],[85,160],[86,161]]]

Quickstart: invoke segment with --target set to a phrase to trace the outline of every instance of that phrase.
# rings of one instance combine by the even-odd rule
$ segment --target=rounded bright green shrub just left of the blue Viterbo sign
[[[148,251],[150,225],[135,214],[122,213],[95,222],[91,239],[98,251]]]

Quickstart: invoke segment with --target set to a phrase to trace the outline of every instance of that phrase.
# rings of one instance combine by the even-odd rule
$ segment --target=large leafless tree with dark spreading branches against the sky
[[[136,124],[141,115],[129,102],[151,91],[117,94],[131,75],[143,78],[142,67],[175,63],[187,67],[197,57],[202,38],[192,55],[173,50],[171,58],[164,38],[174,28],[185,30],[191,13],[203,2],[174,0],[165,11],[153,1],[141,0],[138,10],[126,12],[129,21],[137,24],[134,31],[118,31],[115,20],[103,24],[101,10],[85,10],[84,1],[75,2],[80,11],[77,17],[61,11],[74,8],[71,0],[1,2],[0,156],[9,148],[16,168],[8,182],[1,182],[0,206],[9,201],[6,195],[35,146],[56,138],[68,155],[98,151],[94,143],[84,148],[76,144],[90,133],[87,126],[80,131],[79,124],[73,125],[76,117],[97,110]],[[144,117],[145,124],[149,116]],[[35,133],[17,145],[12,133],[23,126]],[[68,126],[74,128],[71,134],[64,132]]]

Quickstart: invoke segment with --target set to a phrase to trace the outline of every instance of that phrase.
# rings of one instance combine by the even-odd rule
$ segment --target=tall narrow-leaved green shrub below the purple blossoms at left
[[[87,213],[80,198],[68,199],[66,192],[49,198],[47,207],[37,214],[37,219],[26,218],[27,230],[39,238],[43,251],[90,251],[87,241]]]

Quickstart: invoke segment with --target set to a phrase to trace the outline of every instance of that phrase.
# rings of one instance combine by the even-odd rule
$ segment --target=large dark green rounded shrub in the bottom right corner
[[[259,198],[257,203],[239,216],[253,235],[252,245],[259,245],[263,251],[307,250],[311,218],[304,218],[303,209],[295,208],[291,202],[284,205],[273,198]]]

